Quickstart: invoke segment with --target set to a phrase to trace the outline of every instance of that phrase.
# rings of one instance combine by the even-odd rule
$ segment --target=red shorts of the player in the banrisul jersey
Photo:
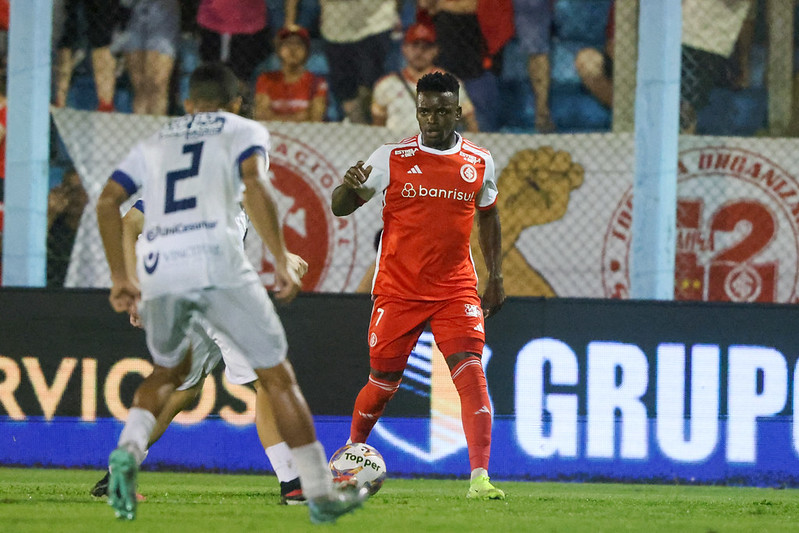
[[[485,325],[476,294],[430,302],[378,296],[369,322],[372,368],[381,372],[404,370],[428,322],[444,357],[461,352],[483,353]]]

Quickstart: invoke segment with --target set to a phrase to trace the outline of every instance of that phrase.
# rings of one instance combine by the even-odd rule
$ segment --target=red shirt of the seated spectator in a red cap
[[[269,97],[269,107],[278,115],[305,111],[314,98],[327,98],[327,81],[307,70],[294,83],[286,83],[279,70],[264,72],[255,83],[255,93]]]

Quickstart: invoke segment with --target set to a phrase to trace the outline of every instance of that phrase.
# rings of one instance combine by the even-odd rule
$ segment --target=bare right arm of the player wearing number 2
[[[241,163],[241,181],[244,183],[244,209],[255,231],[275,257],[276,297],[289,302],[300,291],[300,279],[308,270],[300,256],[286,249],[280,229],[277,206],[269,193],[263,156],[253,154]]]

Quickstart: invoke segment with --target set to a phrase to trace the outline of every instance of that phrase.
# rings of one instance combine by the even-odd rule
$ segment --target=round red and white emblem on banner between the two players
[[[273,134],[269,156],[286,245],[308,262],[303,290],[343,290],[355,263],[356,228],[354,219],[334,218],[328,205],[338,172],[316,150],[281,134]],[[272,288],[274,262],[266,247],[248,244],[247,255]]]

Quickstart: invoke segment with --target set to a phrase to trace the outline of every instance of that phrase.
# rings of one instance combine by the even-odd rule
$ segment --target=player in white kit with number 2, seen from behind
[[[365,491],[333,484],[313,418],[286,359],[287,343],[266,289],[240,245],[235,218],[243,203],[275,257],[276,297],[291,300],[307,264],[289,253],[266,178],[269,133],[237,111],[238,80],[221,64],[198,67],[189,81],[188,115],[137,144],[97,203],[109,300],[139,313],[153,372],[133,399],[118,447],[109,457],[109,503],[120,518],[136,516],[138,460],[169,395],[191,368],[188,331],[210,325],[242,353],[269,394],[278,429],[292,450],[311,521],[333,522],[359,507]],[[223,110],[224,109],[224,110]],[[127,273],[120,206],[137,190],[147,205],[137,243],[141,290]]]

